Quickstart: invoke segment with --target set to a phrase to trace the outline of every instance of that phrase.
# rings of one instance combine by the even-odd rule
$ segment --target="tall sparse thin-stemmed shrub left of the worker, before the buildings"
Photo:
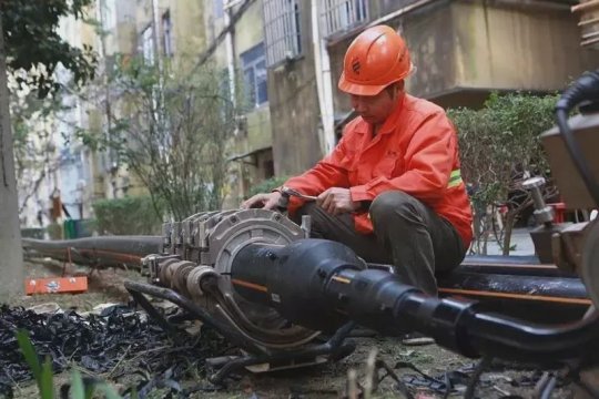
[[[210,65],[164,70],[141,58],[116,58],[106,81],[108,132],[80,131],[91,149],[106,151],[164,202],[174,219],[220,209],[227,184],[227,143],[238,127],[240,103],[229,75]]]

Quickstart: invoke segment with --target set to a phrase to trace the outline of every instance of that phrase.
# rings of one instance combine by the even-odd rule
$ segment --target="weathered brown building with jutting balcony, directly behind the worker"
[[[317,4],[321,38],[314,40],[313,12]],[[595,69],[599,54],[581,49],[576,1],[466,0],[263,0],[265,27],[286,13],[293,23],[266,33],[266,49],[287,40],[268,63],[268,96],[276,174],[311,167],[326,140],[318,108],[315,43],[326,43],[333,84],[337,132],[352,111],[347,95],[336,90],[343,57],[351,41],[366,27],[385,23],[402,32],[416,73],[407,91],[441,106],[480,106],[491,91],[555,92],[585,70]],[[266,17],[265,17],[266,18]],[[285,18],[285,17],[283,17]],[[317,44],[316,44],[317,45]],[[284,54],[284,55],[282,55]],[[326,72],[326,71],[325,71]],[[326,110],[325,110],[326,111]],[[341,123],[341,124],[339,124]],[[329,130],[329,127],[328,127]]]

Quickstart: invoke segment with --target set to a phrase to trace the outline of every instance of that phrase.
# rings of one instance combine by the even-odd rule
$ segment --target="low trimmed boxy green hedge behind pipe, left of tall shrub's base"
[[[100,235],[155,235],[161,232],[161,206],[156,211],[149,196],[102,200],[92,206]]]

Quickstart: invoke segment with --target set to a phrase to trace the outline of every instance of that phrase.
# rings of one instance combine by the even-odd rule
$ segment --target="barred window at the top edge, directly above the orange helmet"
[[[343,33],[366,21],[365,0],[324,0],[322,13],[325,37]]]

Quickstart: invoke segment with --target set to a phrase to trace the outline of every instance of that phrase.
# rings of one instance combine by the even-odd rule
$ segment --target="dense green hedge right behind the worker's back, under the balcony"
[[[478,252],[486,252],[493,221],[488,209],[505,204],[505,233],[499,244],[509,254],[514,224],[531,204],[521,182],[530,175],[550,177],[539,135],[554,125],[556,102],[556,95],[495,93],[481,110],[448,111],[458,130],[461,174],[469,184],[476,217],[481,218],[475,219]],[[551,194],[555,190],[549,185],[546,195]]]

